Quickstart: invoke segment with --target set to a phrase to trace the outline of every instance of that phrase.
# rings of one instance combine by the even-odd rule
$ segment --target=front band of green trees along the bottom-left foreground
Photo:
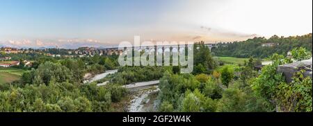
[[[116,89],[69,82],[10,86],[0,91],[0,111],[113,111],[111,102],[119,100],[113,95],[123,92],[125,89],[121,87]]]

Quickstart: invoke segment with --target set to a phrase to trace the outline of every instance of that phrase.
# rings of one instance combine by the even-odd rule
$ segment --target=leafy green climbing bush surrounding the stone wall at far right
[[[303,76],[305,70],[296,73],[289,84],[282,73],[277,73],[278,65],[306,60],[310,55],[304,48],[295,48],[293,57],[273,55],[273,64],[265,66],[253,84],[256,93],[275,106],[276,111],[312,111],[312,78]]]

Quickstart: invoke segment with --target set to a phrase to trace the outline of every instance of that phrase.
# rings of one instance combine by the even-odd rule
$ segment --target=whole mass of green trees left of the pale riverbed
[[[40,57],[19,82],[0,85],[0,111],[114,111],[111,103],[125,96],[125,88],[117,84],[105,87],[82,84],[85,73],[100,73],[106,69],[102,60],[108,63],[108,69],[113,69],[115,65],[108,59]]]

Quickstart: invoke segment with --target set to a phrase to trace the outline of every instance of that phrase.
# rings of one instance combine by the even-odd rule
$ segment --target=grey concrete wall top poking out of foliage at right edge
[[[283,73],[288,83],[292,81],[294,73],[300,71],[301,69],[305,69],[305,73],[303,73],[305,77],[312,78],[312,57],[310,60],[303,60],[300,62],[278,66],[278,72]]]

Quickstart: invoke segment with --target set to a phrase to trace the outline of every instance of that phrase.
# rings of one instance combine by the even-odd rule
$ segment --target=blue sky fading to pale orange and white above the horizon
[[[1,0],[0,46],[233,42],[312,33],[312,0]]]

